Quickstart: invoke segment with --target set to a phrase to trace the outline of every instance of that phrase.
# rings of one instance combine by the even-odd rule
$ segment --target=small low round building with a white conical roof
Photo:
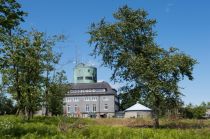
[[[152,110],[137,102],[135,105],[127,108],[124,118],[148,118],[152,117]]]

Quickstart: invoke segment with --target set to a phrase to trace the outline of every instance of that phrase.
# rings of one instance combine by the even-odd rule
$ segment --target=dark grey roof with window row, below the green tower
[[[70,91],[66,95],[117,95],[117,91],[104,81],[98,83],[72,83],[70,84]]]

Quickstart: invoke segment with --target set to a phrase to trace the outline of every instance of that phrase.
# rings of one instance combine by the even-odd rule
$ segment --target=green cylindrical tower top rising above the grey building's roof
[[[96,83],[97,68],[79,63],[74,67],[74,83]]]

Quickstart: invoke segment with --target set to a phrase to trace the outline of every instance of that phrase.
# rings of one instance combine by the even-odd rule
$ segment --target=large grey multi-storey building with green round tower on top
[[[86,64],[74,68],[74,83],[64,98],[64,113],[72,117],[113,117],[119,111],[117,91],[97,82],[97,69]]]

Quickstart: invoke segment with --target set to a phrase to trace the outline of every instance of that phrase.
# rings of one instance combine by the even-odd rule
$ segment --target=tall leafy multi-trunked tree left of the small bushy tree
[[[30,119],[43,102],[46,58],[62,37],[46,37],[35,30],[15,33],[1,48],[2,82],[17,101],[17,114],[21,112]]]

